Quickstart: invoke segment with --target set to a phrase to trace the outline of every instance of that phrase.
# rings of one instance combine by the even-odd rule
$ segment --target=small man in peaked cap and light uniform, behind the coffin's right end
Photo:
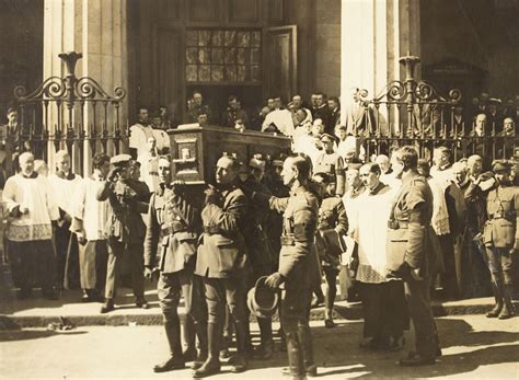
[[[314,173],[326,173],[332,176],[335,183],[335,194],[344,195],[344,161],[343,158],[334,151],[333,146],[335,139],[332,135],[323,134],[321,136],[323,143],[323,152],[319,154],[313,168]]]

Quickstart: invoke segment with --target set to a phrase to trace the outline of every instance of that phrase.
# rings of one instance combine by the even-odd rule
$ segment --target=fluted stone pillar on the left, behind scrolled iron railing
[[[126,16],[127,0],[45,0],[44,79],[50,76],[62,78],[67,70],[58,55],[62,51],[78,51],[83,56],[76,68],[78,78],[94,79],[109,95],[114,95],[116,87],[126,90],[128,85]],[[74,108],[74,113],[79,115],[79,110]],[[126,125],[127,115],[125,101],[119,111],[122,126]],[[57,112],[50,113],[49,116],[49,129],[54,133]],[[92,115],[88,116],[85,122],[85,124],[93,123]],[[97,125],[96,128],[101,130],[102,126]],[[112,131],[113,123],[108,123],[107,128]],[[53,145],[48,154],[49,168],[53,171],[54,151]],[[89,143],[84,145],[83,151],[83,170],[88,174],[91,171],[92,157]],[[74,161],[73,164],[74,171],[79,172],[79,161]]]

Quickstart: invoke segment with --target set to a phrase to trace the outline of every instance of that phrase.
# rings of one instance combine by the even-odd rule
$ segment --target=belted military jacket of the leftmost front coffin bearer
[[[161,184],[151,196],[146,222],[145,265],[155,265],[164,274],[194,267],[199,229],[197,210],[178,189]]]

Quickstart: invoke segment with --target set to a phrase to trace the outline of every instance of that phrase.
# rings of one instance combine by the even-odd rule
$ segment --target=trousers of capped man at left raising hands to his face
[[[145,256],[143,245],[126,244],[108,239],[108,267],[106,269],[105,297],[114,299],[120,278],[123,255],[128,255],[131,270],[131,287],[137,300],[145,298]]]

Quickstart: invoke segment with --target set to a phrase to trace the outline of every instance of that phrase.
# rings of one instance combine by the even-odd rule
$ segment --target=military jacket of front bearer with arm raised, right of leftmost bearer
[[[204,234],[195,273],[209,278],[230,278],[240,275],[247,263],[241,232],[247,201],[235,185],[219,191],[219,195],[217,204],[207,204],[201,210]]]

